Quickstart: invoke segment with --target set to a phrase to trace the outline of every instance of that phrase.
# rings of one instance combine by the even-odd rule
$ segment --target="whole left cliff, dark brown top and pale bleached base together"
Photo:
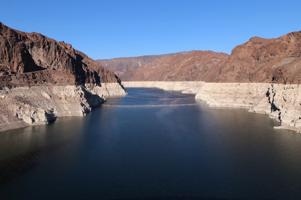
[[[120,79],[70,44],[0,23],[0,131],[85,115]]]

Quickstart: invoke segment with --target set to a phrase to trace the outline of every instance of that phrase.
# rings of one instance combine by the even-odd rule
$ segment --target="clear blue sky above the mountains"
[[[64,40],[93,59],[231,50],[301,30],[301,1],[7,1],[0,21]]]

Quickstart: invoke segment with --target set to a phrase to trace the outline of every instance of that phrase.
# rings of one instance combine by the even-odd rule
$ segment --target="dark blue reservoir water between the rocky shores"
[[[127,88],[133,97],[189,97]],[[199,105],[187,105],[199,103]],[[301,134],[195,99],[108,99],[84,117],[0,133],[1,199],[298,199]]]

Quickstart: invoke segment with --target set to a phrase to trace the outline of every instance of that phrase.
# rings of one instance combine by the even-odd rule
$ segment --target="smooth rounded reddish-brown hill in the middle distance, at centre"
[[[206,81],[214,68],[224,62],[228,54],[213,51],[191,51],[127,71],[122,81]]]

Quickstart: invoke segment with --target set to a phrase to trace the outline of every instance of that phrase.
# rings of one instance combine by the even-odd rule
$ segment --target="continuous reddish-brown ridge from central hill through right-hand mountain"
[[[205,53],[206,52],[206,53]],[[230,55],[192,51],[154,60],[120,76],[122,81],[301,83],[301,31],[279,38],[250,38]]]

